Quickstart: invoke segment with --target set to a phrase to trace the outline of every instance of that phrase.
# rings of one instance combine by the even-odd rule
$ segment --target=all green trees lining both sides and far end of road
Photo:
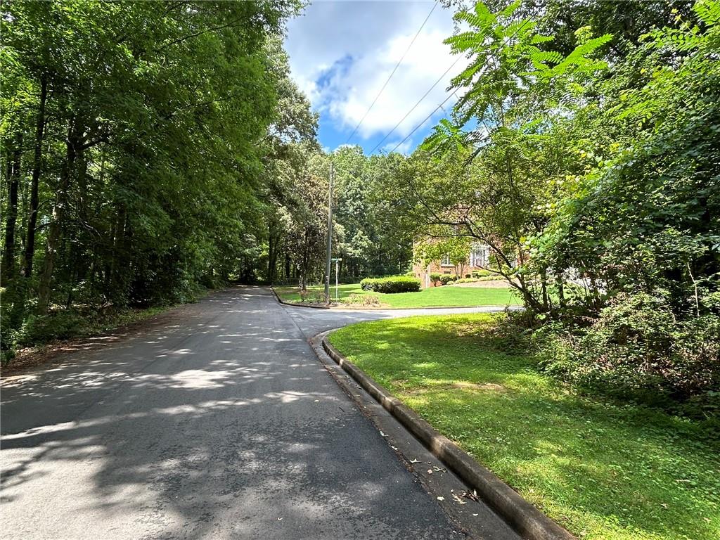
[[[459,101],[412,155],[365,156],[318,145],[297,2],[5,2],[4,350],[63,312],[321,282],[332,160],[341,279],[480,240],[548,369],[715,395],[720,4],[448,4]]]

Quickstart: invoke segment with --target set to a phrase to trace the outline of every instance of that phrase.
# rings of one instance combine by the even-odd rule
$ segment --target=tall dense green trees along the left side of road
[[[183,300],[243,274],[287,161],[274,141],[315,137],[279,45],[297,8],[3,3],[5,349],[35,313]]]

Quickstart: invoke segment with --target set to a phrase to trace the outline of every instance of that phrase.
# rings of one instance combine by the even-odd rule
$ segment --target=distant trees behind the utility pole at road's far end
[[[412,240],[398,228],[385,186],[405,158],[365,156],[359,146],[312,153],[307,166],[279,192],[279,208],[267,217],[269,243],[259,254],[258,276],[306,287],[323,281],[328,219],[328,181],[333,163],[333,257],[341,281],[397,274],[410,266]],[[333,269],[334,274],[334,269]]]

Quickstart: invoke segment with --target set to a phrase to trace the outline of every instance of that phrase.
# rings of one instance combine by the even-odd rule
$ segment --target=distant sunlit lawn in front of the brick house
[[[323,291],[323,286],[308,287],[311,291]],[[297,287],[275,287],[275,291],[285,302],[300,302],[300,289]],[[362,294],[360,284],[343,284],[338,287],[338,297],[349,294]],[[330,287],[330,296],[335,298],[335,287]],[[397,292],[380,294],[380,302],[385,307],[462,307],[477,305],[508,305],[521,303],[520,298],[510,289],[492,289],[482,287],[432,287],[420,292]]]

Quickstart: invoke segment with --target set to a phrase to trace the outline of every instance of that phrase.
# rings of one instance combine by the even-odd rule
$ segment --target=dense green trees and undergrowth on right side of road
[[[720,4],[482,3],[459,95],[396,168],[400,222],[480,241],[543,365],[638,399],[720,391]],[[626,24],[632,21],[631,24]],[[451,253],[448,248],[447,253]]]

